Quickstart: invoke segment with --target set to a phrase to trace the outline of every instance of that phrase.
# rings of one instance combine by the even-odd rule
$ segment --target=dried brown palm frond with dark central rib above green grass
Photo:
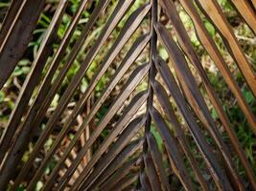
[[[221,72],[255,138],[255,116],[203,22],[207,18],[219,32],[227,53],[256,97],[255,72],[218,2],[119,0],[110,5],[109,0],[97,1],[80,36],[66,53],[88,2],[80,1],[58,48],[53,51],[52,45],[58,40],[58,29],[69,4],[68,0],[58,1],[1,138],[0,190],[17,190],[22,183],[27,190],[34,190],[42,177],[42,190],[256,190],[251,164],[177,9],[179,6],[190,16],[201,46]],[[255,1],[231,2],[255,33]],[[0,88],[11,77],[31,42],[44,5],[45,0],[12,0],[0,33]],[[89,33],[95,30],[105,10],[113,6],[103,26],[98,26],[101,32],[85,53],[79,70],[62,90],[57,107],[45,122],[46,113],[77,55],[83,51]],[[172,29],[160,20],[161,16],[171,23]],[[121,25],[124,18],[128,19]],[[102,55],[101,50],[114,30],[119,30],[119,35]],[[159,53],[159,47],[165,49],[168,57]],[[102,59],[91,72],[89,69],[95,67],[99,55]],[[119,55],[122,60],[117,64]],[[141,57],[146,57],[143,62]],[[97,84],[113,64],[116,70],[105,82],[101,95],[92,101]],[[84,92],[42,156],[46,142],[88,73],[92,77]],[[198,87],[195,73],[204,93]],[[118,93],[114,97],[113,90]],[[217,112],[221,125],[211,116],[209,105]],[[98,117],[103,106],[107,108],[105,114]],[[86,115],[82,116],[86,107]],[[61,150],[78,117],[81,123]],[[45,127],[24,162],[24,154],[42,122]],[[221,128],[230,144],[222,138]],[[104,132],[106,135],[102,137]],[[192,144],[196,145],[196,151],[192,150]],[[242,164],[244,178],[234,156]],[[38,158],[41,160],[36,162]],[[54,167],[45,178],[45,169],[53,160]],[[28,174],[31,174],[29,179]]]

